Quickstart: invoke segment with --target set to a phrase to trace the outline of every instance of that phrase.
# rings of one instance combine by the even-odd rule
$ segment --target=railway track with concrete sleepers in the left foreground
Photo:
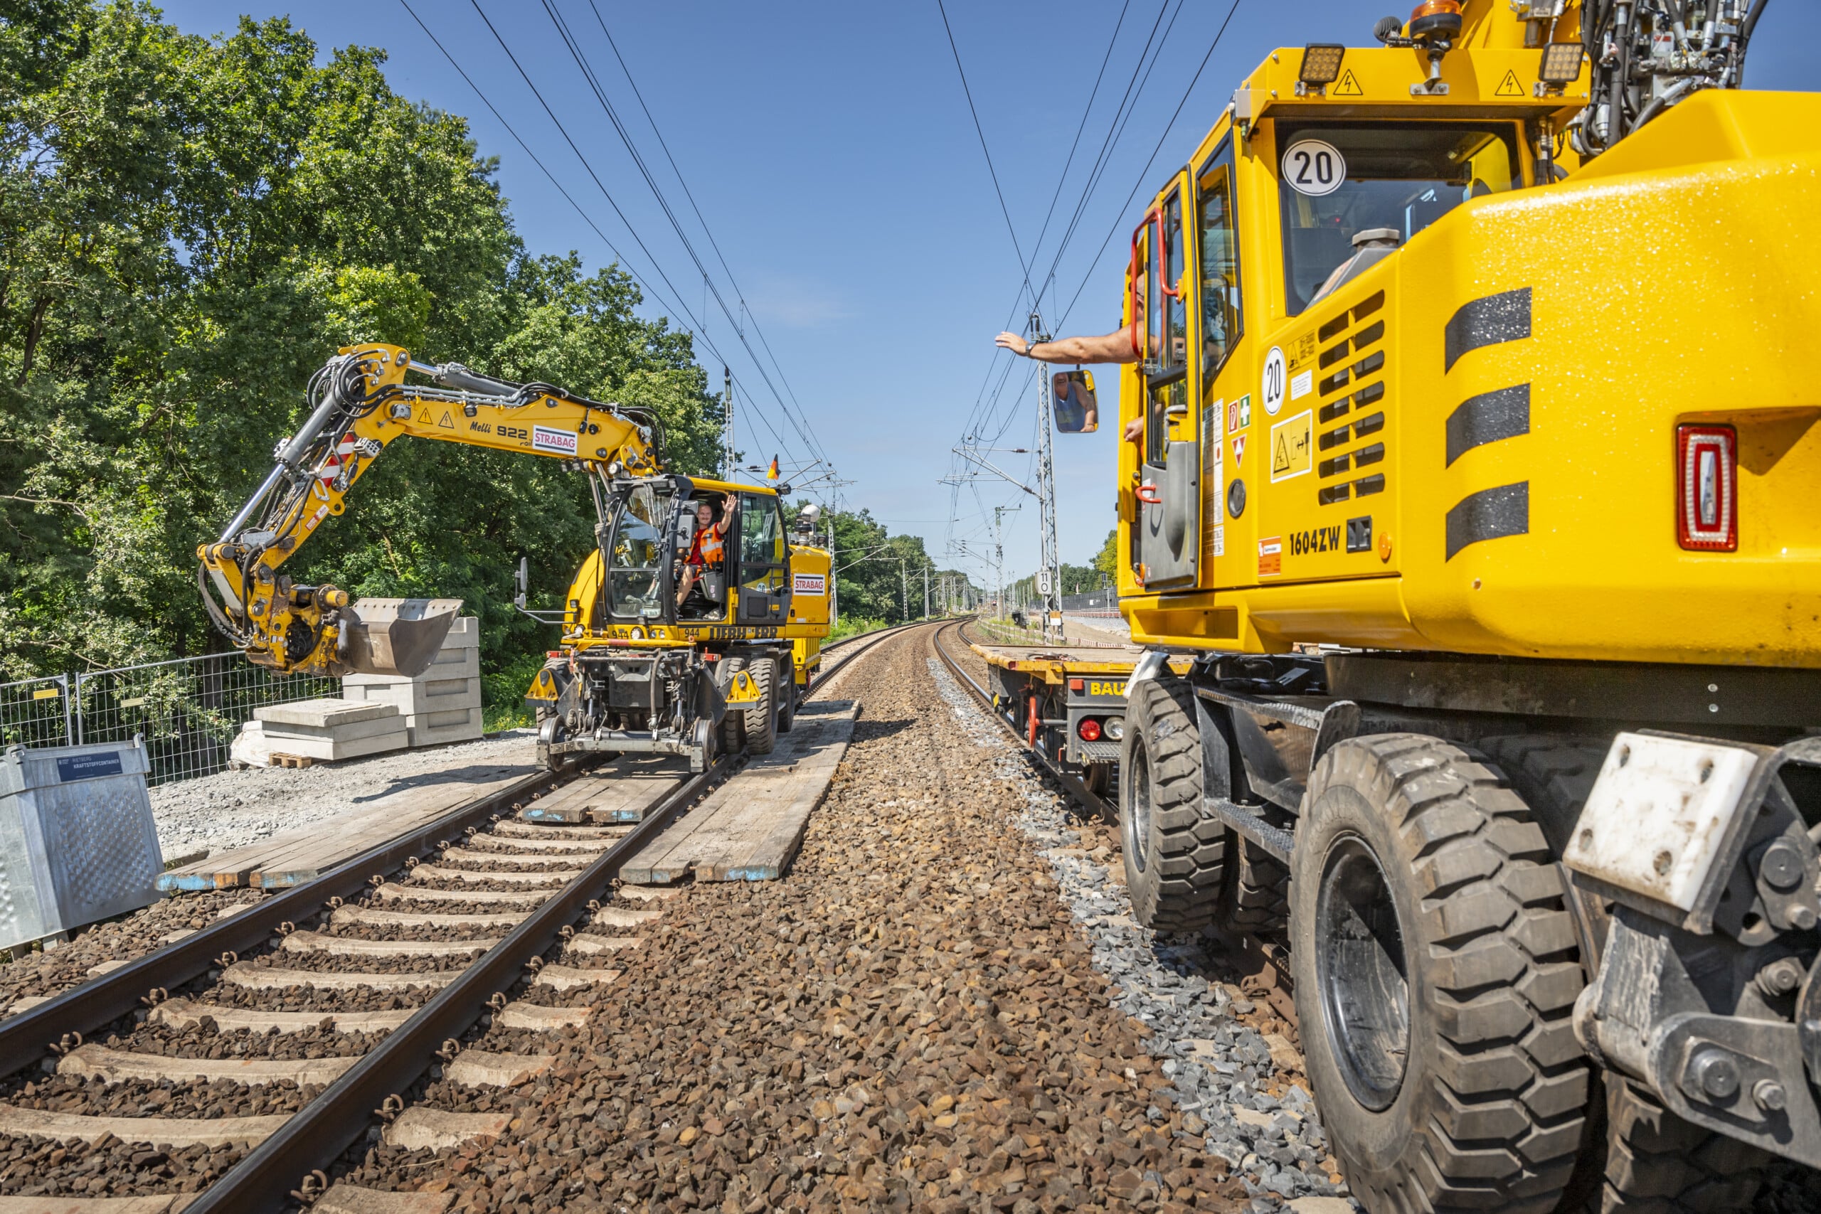
[[[829,646],[810,695],[918,626]],[[548,1068],[539,1034],[581,1025],[663,914],[614,888],[621,866],[739,766],[652,781],[637,823],[597,826],[512,814],[615,777],[526,777],[0,1023],[0,1183],[36,1194],[0,1214],[124,1214],[126,1196],[131,1214],[415,1209],[337,1192],[328,1168],[375,1116],[406,1147],[499,1134],[497,1114],[404,1094],[439,1065],[473,1088]],[[463,1050],[483,1017],[532,1052]]]

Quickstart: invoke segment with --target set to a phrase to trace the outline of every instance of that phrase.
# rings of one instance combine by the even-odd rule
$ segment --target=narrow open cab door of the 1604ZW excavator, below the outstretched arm
[[[1189,382],[1184,182],[1151,207],[1133,235],[1144,269],[1144,453],[1133,573],[1145,590],[1195,586],[1200,570],[1202,451]]]

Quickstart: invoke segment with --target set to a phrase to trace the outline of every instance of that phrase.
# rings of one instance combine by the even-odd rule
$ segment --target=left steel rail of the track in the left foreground
[[[331,897],[353,897],[366,888],[368,875],[390,872],[408,857],[428,852],[450,835],[488,821],[503,806],[528,799],[554,777],[534,772],[497,792],[461,804],[435,821],[402,832],[330,872],[297,885],[284,894],[253,903],[248,910],[211,923],[175,945],[166,945],[127,965],[89,979],[53,997],[49,1003],[0,1021],[0,1076],[36,1065],[49,1054],[49,1043],[64,1034],[84,1036],[137,1012],[142,996],[155,988],[175,988],[206,974],[224,952],[251,952],[277,932],[280,923],[300,923]]]

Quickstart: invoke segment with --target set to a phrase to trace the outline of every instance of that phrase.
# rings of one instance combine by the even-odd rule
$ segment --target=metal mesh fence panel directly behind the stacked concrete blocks
[[[273,675],[242,653],[209,653],[76,675],[78,743],[144,735],[148,784],[213,775],[253,710],[341,695],[339,679]]]

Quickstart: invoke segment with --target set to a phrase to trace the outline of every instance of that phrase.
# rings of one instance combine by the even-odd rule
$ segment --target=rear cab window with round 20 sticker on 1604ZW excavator
[[[1289,315],[1353,257],[1355,233],[1389,228],[1404,244],[1468,198],[1521,184],[1508,122],[1286,124],[1277,146]]]

